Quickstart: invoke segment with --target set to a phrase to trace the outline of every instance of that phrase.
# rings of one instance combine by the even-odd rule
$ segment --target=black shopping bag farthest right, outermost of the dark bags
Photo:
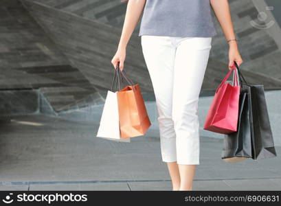
[[[238,75],[241,76],[243,82],[245,82],[241,83],[241,85],[243,88],[247,89],[249,104],[251,104],[249,117],[252,159],[258,160],[276,157],[264,86],[248,84],[239,69]]]

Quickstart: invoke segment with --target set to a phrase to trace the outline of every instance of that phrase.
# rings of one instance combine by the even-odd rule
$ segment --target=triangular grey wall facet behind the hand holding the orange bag
[[[22,2],[71,65],[79,68],[96,88],[101,91],[109,89],[113,77],[111,58],[116,52],[121,30],[33,1]],[[141,84],[144,91],[151,91],[150,78],[139,47],[139,39],[133,36],[128,45],[130,52],[126,55],[126,71],[135,82]]]

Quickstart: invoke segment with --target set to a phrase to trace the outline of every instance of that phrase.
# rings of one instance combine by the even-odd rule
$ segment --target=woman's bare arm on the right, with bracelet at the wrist
[[[228,0],[210,0],[210,3],[225,34],[225,38],[227,40],[236,38]],[[243,63],[237,42],[229,41],[229,69],[234,65],[234,61],[236,61],[238,65]]]

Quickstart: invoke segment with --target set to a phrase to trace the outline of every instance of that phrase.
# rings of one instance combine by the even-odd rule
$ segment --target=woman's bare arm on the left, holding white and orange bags
[[[128,44],[129,39],[131,38],[131,35],[133,34],[133,31],[135,30],[135,26],[139,21],[139,17],[142,15],[145,3],[146,0],[128,1],[120,42],[117,48],[117,52],[111,60],[111,63],[113,64],[114,68],[116,68],[117,62],[120,62],[121,71],[124,68],[124,60],[126,58],[126,46]]]

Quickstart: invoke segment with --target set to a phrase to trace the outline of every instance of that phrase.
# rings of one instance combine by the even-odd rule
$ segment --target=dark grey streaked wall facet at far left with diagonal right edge
[[[1,1],[0,31],[0,89],[41,88],[57,111],[95,93],[20,1]]]

